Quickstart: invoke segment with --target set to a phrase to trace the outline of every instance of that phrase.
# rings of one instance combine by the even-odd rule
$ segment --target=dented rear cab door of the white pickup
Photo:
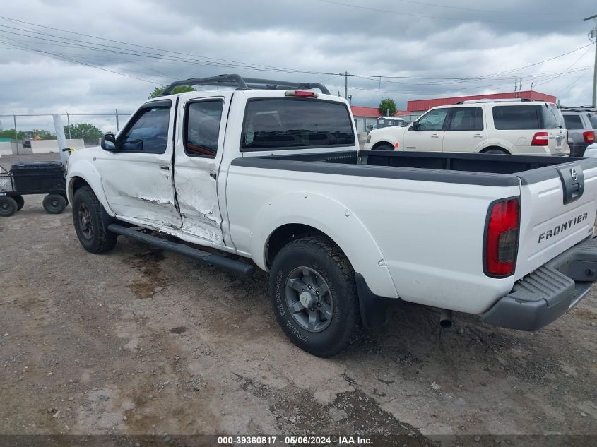
[[[175,189],[182,231],[223,245],[218,170],[232,92],[194,95],[179,102]]]

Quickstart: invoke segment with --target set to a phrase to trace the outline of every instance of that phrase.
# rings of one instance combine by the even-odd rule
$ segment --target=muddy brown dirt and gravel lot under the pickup
[[[264,273],[122,237],[94,256],[41,202],[0,220],[2,434],[597,434],[595,290],[538,333],[404,304],[319,359]]]

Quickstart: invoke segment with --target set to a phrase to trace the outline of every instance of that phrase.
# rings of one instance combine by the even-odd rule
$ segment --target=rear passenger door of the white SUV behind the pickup
[[[481,107],[454,107],[444,133],[444,152],[475,153],[487,141]]]

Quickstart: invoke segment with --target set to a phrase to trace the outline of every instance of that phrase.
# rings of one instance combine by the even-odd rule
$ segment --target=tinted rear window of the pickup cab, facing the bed
[[[247,101],[242,151],[353,145],[353,121],[345,104],[286,97]]]

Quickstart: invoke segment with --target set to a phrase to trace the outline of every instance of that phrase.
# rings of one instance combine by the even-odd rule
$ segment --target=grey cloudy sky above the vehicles
[[[412,99],[512,91],[515,78],[523,90],[533,82],[562,104],[587,105],[594,23],[582,19],[596,13],[594,0],[6,2],[0,114],[131,112],[157,85],[220,73],[343,93],[335,73],[344,71],[360,75],[348,78],[353,105],[393,97],[406,109]],[[77,121],[115,130],[111,117]],[[17,124],[52,128],[50,117]]]

